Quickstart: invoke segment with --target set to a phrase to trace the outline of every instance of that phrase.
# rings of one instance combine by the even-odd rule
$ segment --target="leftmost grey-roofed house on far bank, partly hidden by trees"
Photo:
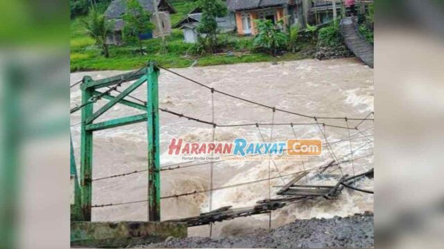
[[[150,12],[152,15],[155,13],[154,0],[138,0],[140,5],[144,8],[144,10]],[[161,27],[158,27],[157,21],[154,21],[155,30],[153,30],[153,37],[158,37],[160,33],[160,28],[162,28],[164,35],[171,34],[171,21],[170,14],[176,14],[176,10],[169,4],[166,0],[157,0],[157,8],[159,10],[160,24]],[[105,11],[105,18],[108,20],[114,20],[114,30],[113,33],[108,35],[107,43],[114,45],[122,45],[122,30],[124,21],[123,14],[126,12],[126,0],[114,0],[108,6],[108,9]],[[142,36],[148,37],[151,34],[141,34]]]

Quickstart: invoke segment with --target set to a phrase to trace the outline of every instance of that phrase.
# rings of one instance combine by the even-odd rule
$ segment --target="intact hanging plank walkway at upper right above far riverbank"
[[[362,62],[373,68],[373,46],[359,34],[357,17],[341,19],[340,29],[348,49],[352,50]]]

